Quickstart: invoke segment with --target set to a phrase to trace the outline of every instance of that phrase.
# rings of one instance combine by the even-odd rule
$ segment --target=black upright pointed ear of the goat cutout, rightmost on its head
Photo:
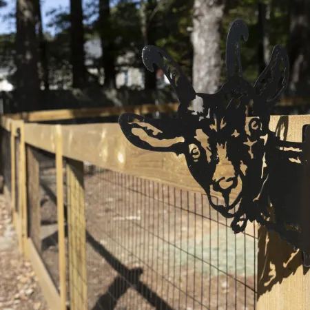
[[[273,48],[269,63],[258,77],[254,88],[264,102],[273,107],[285,91],[289,80],[289,58],[281,45]]]

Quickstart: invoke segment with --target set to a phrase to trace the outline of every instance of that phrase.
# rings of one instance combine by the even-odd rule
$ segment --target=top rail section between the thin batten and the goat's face
[[[118,124],[63,126],[63,155],[78,161],[201,192],[183,155],[134,147]]]

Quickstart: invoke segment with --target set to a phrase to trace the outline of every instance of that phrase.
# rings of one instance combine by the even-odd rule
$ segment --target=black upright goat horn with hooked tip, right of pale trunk
[[[236,19],[231,24],[229,28],[229,32],[227,35],[227,43],[226,43],[226,70],[227,70],[227,79],[231,76],[238,74],[242,76],[242,66],[240,59],[240,38],[243,37],[245,41],[249,38],[249,30],[247,26],[241,19]],[[236,71],[236,63],[238,61],[237,71]]]

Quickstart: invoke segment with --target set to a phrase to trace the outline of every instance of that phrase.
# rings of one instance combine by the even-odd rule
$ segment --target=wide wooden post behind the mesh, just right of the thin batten
[[[86,225],[83,162],[68,159],[70,307],[87,310]]]

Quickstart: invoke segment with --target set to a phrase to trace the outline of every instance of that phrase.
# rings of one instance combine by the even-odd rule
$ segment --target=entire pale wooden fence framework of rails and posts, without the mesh
[[[138,108],[139,109],[139,108]],[[168,105],[161,111],[175,110]],[[121,110],[127,111],[130,109]],[[102,111],[102,110],[101,110]],[[134,112],[154,112],[154,108],[143,107]],[[119,113],[120,110],[117,110]],[[41,113],[41,114],[40,114]],[[115,172],[124,172],[147,180],[154,180],[164,185],[172,185],[180,189],[203,193],[187,169],[185,158],[170,153],[154,153],[138,149],[123,136],[118,124],[87,125],[40,125],[25,121],[47,121],[49,119],[68,119],[73,115],[81,116],[83,112],[34,112],[28,115],[10,115],[1,117],[1,128],[11,134],[11,173],[15,175],[15,138],[19,138],[19,184],[12,178],[12,216],[14,219],[21,251],[27,256],[37,273],[44,296],[51,309],[66,309],[66,289],[70,289],[71,309],[87,309],[87,275],[85,269],[85,218],[83,218],[83,162],[87,161],[98,167]],[[53,112],[54,113],[54,112]],[[85,111],[84,111],[85,113]],[[113,110],[112,113],[116,113]],[[106,112],[99,112],[101,116]],[[93,114],[88,114],[88,116]],[[111,115],[111,114],[110,114]],[[83,114],[85,116],[85,114]],[[96,115],[98,116],[98,114]],[[310,116],[272,116],[270,129],[287,141],[302,141],[302,128],[310,124]],[[285,134],[285,136],[283,136]],[[28,234],[28,203],[37,204],[38,198],[30,196],[29,178],[38,178],[36,163],[27,145],[48,151],[56,155],[56,196],[59,222],[59,275],[60,293],[54,286],[46,267],[43,265],[37,249]],[[63,194],[63,158],[68,158],[66,167],[67,183],[74,193],[67,193],[68,200],[68,242],[69,257],[75,269],[70,267],[70,287],[65,282],[65,218]],[[5,164],[5,163],[4,163]],[[32,169],[29,169],[32,165]],[[33,168],[34,167],[34,168]],[[225,165],[223,165],[225,169]],[[28,172],[28,173],[27,173]],[[30,174],[30,175],[29,175]],[[33,174],[33,175],[31,175]],[[38,180],[34,181],[37,184]],[[19,191],[19,212],[14,208],[15,190]],[[216,195],[216,193],[213,193]],[[29,197],[28,197],[29,196]],[[73,213],[77,212],[75,216]],[[72,220],[76,220],[72,223]],[[78,225],[78,226],[76,226]],[[74,227],[70,228],[70,227]],[[76,242],[79,240],[79,242]],[[310,273],[304,271],[300,256],[296,256],[291,247],[267,234],[262,227],[258,230],[258,309],[310,309]],[[276,249],[276,250],[275,250]],[[281,255],[279,255],[281,254]],[[281,256],[294,260],[293,272],[287,272]],[[270,265],[272,262],[272,266]],[[272,288],[270,283],[280,278]],[[76,286],[80,286],[81,295],[74,294]]]

